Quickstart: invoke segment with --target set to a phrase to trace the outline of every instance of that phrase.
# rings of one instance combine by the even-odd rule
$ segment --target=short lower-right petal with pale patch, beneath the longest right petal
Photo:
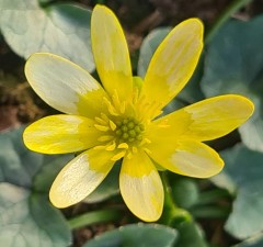
[[[159,143],[159,148],[149,149],[150,157],[162,167],[188,177],[209,178],[224,167],[224,161],[214,149],[192,139],[181,141],[176,146]]]

